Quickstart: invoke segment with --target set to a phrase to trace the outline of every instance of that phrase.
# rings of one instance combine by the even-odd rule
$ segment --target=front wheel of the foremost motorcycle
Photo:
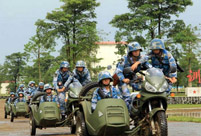
[[[156,128],[156,136],[167,136],[168,126],[167,118],[164,111],[159,111],[154,117],[154,124]]]

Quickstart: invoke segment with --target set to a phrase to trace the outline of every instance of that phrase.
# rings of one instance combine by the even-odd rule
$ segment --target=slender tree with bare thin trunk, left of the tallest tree
[[[38,64],[38,80],[41,81],[41,55],[54,51],[56,42],[55,37],[52,34],[53,31],[48,31],[51,27],[43,20],[38,20],[35,25],[36,35],[30,38],[30,41],[24,45],[24,50],[31,55],[35,56],[35,60]]]

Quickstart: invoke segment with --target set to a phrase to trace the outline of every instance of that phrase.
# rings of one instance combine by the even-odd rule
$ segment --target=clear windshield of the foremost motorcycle
[[[146,72],[145,79],[158,89],[165,80],[162,70],[152,67]]]

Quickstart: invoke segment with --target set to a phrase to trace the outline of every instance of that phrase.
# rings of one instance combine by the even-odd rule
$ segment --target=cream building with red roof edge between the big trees
[[[121,44],[126,44],[126,42],[120,42]],[[111,75],[113,75],[116,64],[119,59],[121,59],[120,55],[115,54],[117,52],[116,45],[119,43],[113,42],[113,41],[103,41],[103,42],[97,42],[96,44],[99,45],[99,48],[97,50],[97,58],[102,58],[102,60],[95,64],[94,66],[102,66],[106,67],[111,65],[112,68],[108,70]],[[105,69],[107,70],[107,69]]]

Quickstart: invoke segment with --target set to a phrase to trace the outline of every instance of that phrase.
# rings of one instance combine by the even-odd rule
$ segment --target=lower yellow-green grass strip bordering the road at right
[[[201,123],[201,118],[184,117],[184,116],[168,116],[168,121],[181,121],[181,122]]]

